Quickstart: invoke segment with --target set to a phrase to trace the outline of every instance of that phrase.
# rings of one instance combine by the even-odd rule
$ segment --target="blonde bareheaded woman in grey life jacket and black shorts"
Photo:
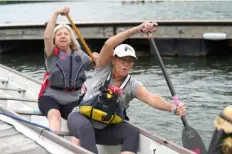
[[[79,104],[84,93],[85,70],[91,64],[70,26],[60,24],[55,27],[58,15],[67,15],[69,10],[64,7],[55,11],[44,33],[47,73],[38,106],[53,131],[61,130],[61,118],[67,119]]]

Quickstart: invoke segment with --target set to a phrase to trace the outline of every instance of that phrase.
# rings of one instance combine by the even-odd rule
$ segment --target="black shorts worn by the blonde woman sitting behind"
[[[80,101],[78,100],[75,102],[68,103],[67,105],[62,105],[49,96],[41,96],[38,102],[39,109],[44,116],[47,117],[49,110],[57,109],[60,111],[61,117],[66,120],[68,118],[68,115],[72,112],[73,108],[78,106],[79,104]]]

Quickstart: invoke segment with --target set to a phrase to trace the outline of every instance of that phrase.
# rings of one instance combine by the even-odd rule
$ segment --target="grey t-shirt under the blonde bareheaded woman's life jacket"
[[[84,53],[83,51],[75,51],[75,54],[80,55],[84,63],[84,67],[86,69],[90,67],[91,61],[90,61],[89,56],[86,53]],[[54,54],[51,54],[48,57],[45,56],[45,65],[46,65],[47,71],[50,71],[52,69],[54,65],[53,62],[56,61],[56,59],[58,59],[57,56],[55,56]],[[46,88],[43,96],[50,96],[54,98],[55,100],[57,100],[60,104],[66,105],[68,103],[77,101],[81,94],[82,94],[81,89],[78,91],[73,91],[73,92],[64,92],[61,90],[56,90],[56,89],[52,89],[48,87]]]

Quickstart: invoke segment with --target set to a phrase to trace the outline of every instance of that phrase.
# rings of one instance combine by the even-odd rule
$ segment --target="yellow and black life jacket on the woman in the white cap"
[[[93,120],[106,124],[116,124],[129,120],[118,97],[123,92],[123,88],[130,80],[128,74],[120,88],[109,86],[112,73],[109,74],[103,86],[90,96],[90,99],[82,101],[79,105],[79,112]]]

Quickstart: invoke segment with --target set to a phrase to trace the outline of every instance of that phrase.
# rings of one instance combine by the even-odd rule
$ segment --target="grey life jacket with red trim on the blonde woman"
[[[67,55],[55,48],[53,55],[57,56],[57,59],[52,60],[51,71],[44,74],[38,99],[47,87],[64,92],[77,91],[86,80],[84,63],[74,51]]]

